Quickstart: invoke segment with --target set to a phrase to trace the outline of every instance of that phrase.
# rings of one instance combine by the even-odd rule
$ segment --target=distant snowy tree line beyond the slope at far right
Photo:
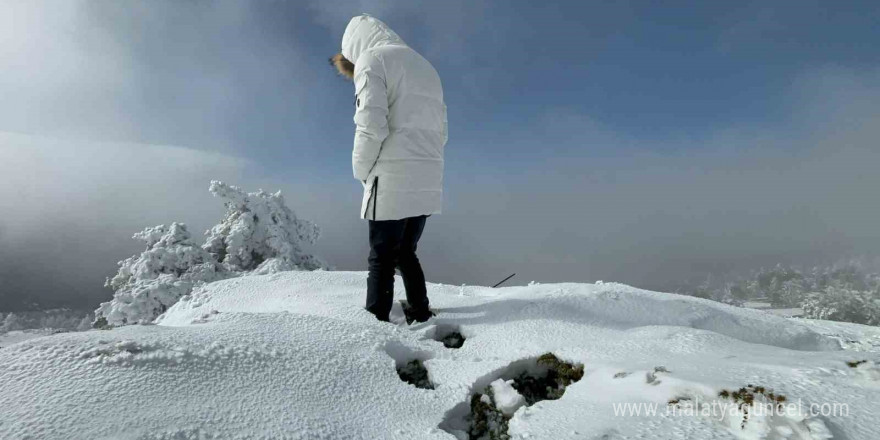
[[[774,307],[800,307],[805,318],[880,325],[880,273],[858,261],[810,270],[777,265],[733,281],[710,277],[679,293],[735,305],[765,299]]]

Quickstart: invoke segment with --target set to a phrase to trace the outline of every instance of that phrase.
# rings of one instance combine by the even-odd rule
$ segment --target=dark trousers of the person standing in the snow
[[[425,274],[416,257],[416,246],[428,216],[401,220],[370,220],[370,275],[367,277],[367,310],[388,321],[394,302],[394,269],[400,269],[406,300],[415,311],[428,310]]]

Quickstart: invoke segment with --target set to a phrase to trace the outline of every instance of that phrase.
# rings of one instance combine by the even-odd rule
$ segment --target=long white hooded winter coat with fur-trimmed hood
[[[364,184],[361,218],[439,214],[447,122],[437,71],[367,15],[348,23],[342,55],[355,66],[351,161]]]

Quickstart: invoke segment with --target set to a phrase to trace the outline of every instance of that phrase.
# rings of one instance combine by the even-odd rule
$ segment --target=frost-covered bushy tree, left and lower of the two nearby
[[[120,261],[107,280],[115,295],[95,311],[97,326],[150,322],[196,284],[228,277],[182,223],[146,228],[132,238],[147,248]]]

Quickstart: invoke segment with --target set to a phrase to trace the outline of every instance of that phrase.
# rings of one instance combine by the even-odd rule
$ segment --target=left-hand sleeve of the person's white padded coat
[[[351,165],[354,177],[367,180],[379,158],[382,142],[388,137],[388,94],[385,69],[375,55],[360,56],[354,71],[355,105],[354,150]]]

